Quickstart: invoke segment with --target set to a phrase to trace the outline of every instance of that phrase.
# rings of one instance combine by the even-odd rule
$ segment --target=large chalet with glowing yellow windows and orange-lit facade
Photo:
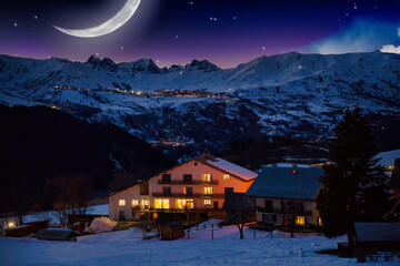
[[[246,193],[257,173],[210,154],[109,195],[111,219],[156,218],[159,212],[221,211],[227,193]]]

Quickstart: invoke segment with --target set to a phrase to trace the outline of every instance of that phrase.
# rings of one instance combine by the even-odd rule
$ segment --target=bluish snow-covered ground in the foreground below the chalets
[[[212,223],[209,222],[209,223]],[[289,238],[277,232],[244,231],[236,226],[192,231],[190,239],[142,241],[139,228],[82,236],[77,243],[0,238],[0,265],[356,265],[354,258],[319,255],[334,248],[339,239],[323,236]],[[302,252],[301,249],[302,248]],[[371,265],[399,265],[399,260]],[[368,265],[368,264],[367,264]]]

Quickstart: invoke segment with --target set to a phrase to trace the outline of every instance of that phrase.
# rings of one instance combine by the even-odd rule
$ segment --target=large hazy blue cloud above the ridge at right
[[[359,18],[344,30],[312,43],[309,50],[322,54],[376,51],[400,42],[399,24]]]

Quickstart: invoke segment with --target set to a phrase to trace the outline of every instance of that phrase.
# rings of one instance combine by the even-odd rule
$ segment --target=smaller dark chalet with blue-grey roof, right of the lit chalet
[[[316,196],[323,170],[317,166],[266,166],[247,192],[256,198],[259,226],[319,225]]]

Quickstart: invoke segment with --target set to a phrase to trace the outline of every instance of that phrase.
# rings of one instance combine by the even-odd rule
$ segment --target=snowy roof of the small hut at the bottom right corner
[[[354,223],[359,242],[400,242],[400,223]]]

